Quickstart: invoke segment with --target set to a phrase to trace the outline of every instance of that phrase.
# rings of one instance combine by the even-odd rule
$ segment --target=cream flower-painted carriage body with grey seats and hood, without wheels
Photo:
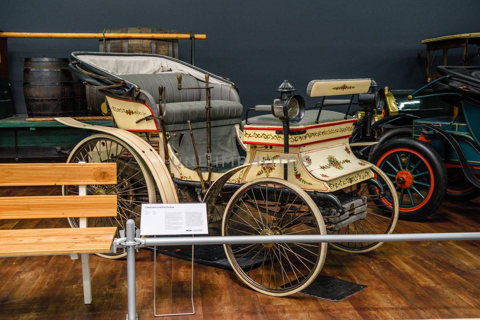
[[[145,117],[158,116],[161,107],[168,132],[168,156],[170,171],[175,178],[199,181],[194,170],[192,142],[187,121],[192,122],[200,159],[205,165],[204,133],[205,93],[203,90],[179,91],[176,76],[182,75],[182,86],[203,87],[204,77],[210,76],[213,87],[212,105],[212,159],[215,181],[242,163],[268,162],[275,159],[290,159],[288,180],[304,190],[331,192],[357,181],[373,177],[371,164],[355,158],[348,145],[356,119],[344,119],[344,114],[322,111],[315,123],[318,111],[307,111],[305,119],[291,126],[294,134],[289,137],[289,154],[284,154],[281,122],[269,114],[253,117],[252,124],[240,124],[243,111],[234,84],[179,60],[155,55],[101,55],[74,53],[79,61],[104,70],[110,77],[125,80],[136,91],[131,97],[107,95],[110,111],[116,125],[146,139],[164,159],[162,135],[158,120],[140,121]],[[158,86],[162,85],[165,100],[159,106]],[[366,92],[369,79],[315,80],[309,86],[309,95],[335,95]],[[270,124],[270,125],[269,125]],[[299,133],[299,134],[295,134]],[[242,155],[245,149],[246,155]],[[226,163],[228,161],[228,164]],[[256,164],[232,176],[228,182],[245,183],[262,177],[283,177],[278,164]],[[277,169],[277,170],[275,170]],[[207,172],[204,172],[206,179]]]

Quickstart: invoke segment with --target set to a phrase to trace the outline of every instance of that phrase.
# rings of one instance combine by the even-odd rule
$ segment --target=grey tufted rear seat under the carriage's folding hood
[[[158,86],[165,90],[165,125],[185,124],[188,120],[192,123],[206,121],[205,90],[188,89],[178,90],[177,72],[162,72],[152,74],[130,74],[121,77],[149,92],[155,99],[158,110]],[[182,74],[182,87],[202,87],[205,82],[194,77]],[[212,86],[212,85],[211,85]],[[237,91],[228,85],[213,85],[211,90],[210,105],[211,120],[240,118],[243,107],[240,104]]]

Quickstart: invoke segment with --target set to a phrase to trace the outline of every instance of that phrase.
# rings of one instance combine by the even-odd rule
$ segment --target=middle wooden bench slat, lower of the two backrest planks
[[[0,197],[0,219],[115,216],[115,194]]]

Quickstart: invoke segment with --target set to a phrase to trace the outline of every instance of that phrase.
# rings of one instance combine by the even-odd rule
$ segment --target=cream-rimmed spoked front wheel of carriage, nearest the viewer
[[[262,178],[246,183],[228,202],[223,236],[326,234],[312,198],[293,183]],[[224,245],[236,274],[250,287],[271,296],[302,290],[317,277],[326,243]]]

